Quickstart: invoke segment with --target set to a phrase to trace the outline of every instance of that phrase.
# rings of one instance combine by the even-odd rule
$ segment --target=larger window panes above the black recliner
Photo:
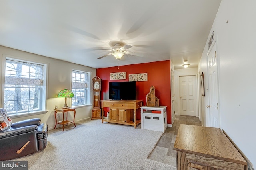
[[[4,108],[8,114],[44,109],[44,67],[44,64],[6,58]]]

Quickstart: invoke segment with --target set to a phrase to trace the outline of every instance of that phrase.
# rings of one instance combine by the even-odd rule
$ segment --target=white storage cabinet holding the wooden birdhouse
[[[142,106],[141,129],[164,132],[167,128],[166,106],[148,107]],[[158,112],[158,113],[152,113]]]

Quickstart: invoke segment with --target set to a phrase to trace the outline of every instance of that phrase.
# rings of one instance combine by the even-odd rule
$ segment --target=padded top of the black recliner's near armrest
[[[15,129],[10,128],[8,131],[3,131],[0,133],[0,139],[14,136],[14,135],[19,135],[22,133],[27,133],[31,131],[35,131],[38,128],[37,125],[32,125],[32,126],[24,126],[24,127],[18,127]]]

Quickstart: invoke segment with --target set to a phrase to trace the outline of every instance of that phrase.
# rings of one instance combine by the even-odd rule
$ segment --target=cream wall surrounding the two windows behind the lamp
[[[54,108],[55,105],[58,105],[58,108],[64,106],[64,98],[57,98],[57,94],[60,90],[64,88],[71,89],[71,80],[72,80],[72,69],[87,71],[92,73],[92,78],[96,76],[96,68],[91,68],[87,66],[82,66],[79,64],[69,63],[66,61],[61,61],[57,59],[52,59],[49,57],[36,55],[32,53],[27,53],[24,51],[11,49],[8,47],[0,46],[0,56],[3,57],[3,54],[10,55],[14,57],[19,57],[24,60],[32,60],[34,62],[43,62],[49,63],[49,72],[48,72],[48,83],[47,83],[47,98],[46,98],[46,110],[49,110],[46,114],[34,115],[29,117],[20,117],[20,118],[12,118],[13,122],[30,119],[30,118],[40,118],[42,119],[42,123],[47,123],[49,129],[53,129],[55,126],[55,118],[54,118]],[[2,70],[2,58],[0,60],[0,70]],[[2,80],[2,74],[0,75],[0,80]],[[4,87],[4,82],[1,83],[2,88]],[[2,94],[0,93],[0,108],[2,108]],[[71,106],[70,98],[67,99],[68,106]],[[92,116],[92,105],[86,107],[79,107],[76,109],[76,117],[75,121],[80,121],[83,119],[90,119]],[[70,118],[72,118],[72,113],[69,114]],[[60,125],[57,125],[60,127]]]

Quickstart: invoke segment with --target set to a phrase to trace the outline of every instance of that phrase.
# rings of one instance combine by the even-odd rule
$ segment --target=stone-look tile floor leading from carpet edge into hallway
[[[173,150],[173,146],[180,124],[202,125],[198,117],[185,115],[176,116],[172,127],[167,127],[162,137],[156,144],[156,147],[148,156],[148,159],[176,167],[176,151]]]

